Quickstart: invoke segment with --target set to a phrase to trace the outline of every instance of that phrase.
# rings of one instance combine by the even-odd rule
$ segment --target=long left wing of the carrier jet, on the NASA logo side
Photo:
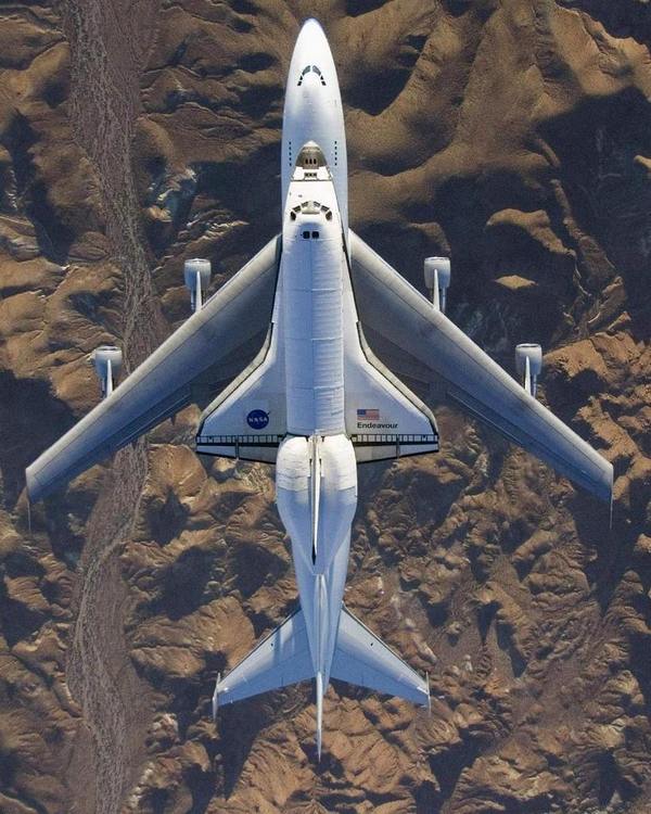
[[[31,500],[72,480],[191,403],[214,397],[261,345],[280,260],[273,238],[145,361],[26,471]]]

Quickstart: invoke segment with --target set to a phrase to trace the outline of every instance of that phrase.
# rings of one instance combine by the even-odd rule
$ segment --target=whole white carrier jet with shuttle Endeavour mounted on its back
[[[311,681],[320,754],[333,678],[430,701],[426,676],[343,601],[358,466],[438,450],[432,410],[400,377],[435,389],[607,503],[613,470],[536,399],[539,346],[518,346],[516,381],[445,316],[448,258],[425,259],[426,297],[349,229],[342,101],[314,20],[292,55],[281,150],[280,233],[205,303],[209,266],[189,260],[194,314],[117,386],[119,352],[98,348],[105,398],[26,480],[38,500],[191,403],[205,408],[200,454],[275,465],[299,602],[219,676],[213,710],[216,716],[222,704]]]

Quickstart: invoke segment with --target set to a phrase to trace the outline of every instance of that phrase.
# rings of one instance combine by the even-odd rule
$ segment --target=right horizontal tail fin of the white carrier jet
[[[427,682],[346,608],[342,609],[331,677],[429,705]]]

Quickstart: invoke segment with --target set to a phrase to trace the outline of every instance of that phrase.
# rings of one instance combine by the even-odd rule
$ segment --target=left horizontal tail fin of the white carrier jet
[[[297,610],[263,639],[226,678],[217,682],[213,712],[216,713],[218,704],[288,687],[314,675],[305,620],[303,611]]]

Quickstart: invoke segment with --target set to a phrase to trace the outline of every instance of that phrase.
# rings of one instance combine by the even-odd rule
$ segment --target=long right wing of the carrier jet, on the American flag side
[[[359,319],[408,354],[445,396],[598,498],[612,499],[613,468],[435,310],[353,231],[350,274]]]

